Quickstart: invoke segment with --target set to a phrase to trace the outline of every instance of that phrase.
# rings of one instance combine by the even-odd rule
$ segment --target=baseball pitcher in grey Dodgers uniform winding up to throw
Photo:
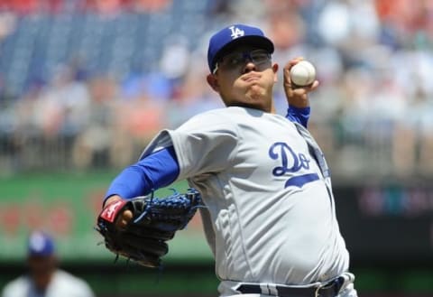
[[[301,59],[290,60],[288,114],[276,115],[273,51],[262,30],[244,24],[211,37],[207,83],[226,108],[156,135],[107,190],[98,229],[117,255],[157,266],[199,209],[221,296],[353,297],[327,162],[307,130],[318,81],[295,88],[289,71]],[[185,179],[188,193],[152,197]]]

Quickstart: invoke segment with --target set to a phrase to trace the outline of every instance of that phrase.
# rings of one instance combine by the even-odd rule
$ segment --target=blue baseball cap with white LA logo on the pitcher
[[[253,45],[270,53],[274,50],[273,43],[264,36],[261,29],[241,23],[232,24],[210,38],[207,49],[207,64],[210,72],[215,69],[217,60],[241,44]]]

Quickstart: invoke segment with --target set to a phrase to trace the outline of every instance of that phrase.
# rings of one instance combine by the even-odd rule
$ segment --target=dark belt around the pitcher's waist
[[[273,285],[271,287],[263,288],[263,285],[242,283],[237,287],[237,291],[244,294],[265,294],[275,295],[278,297],[336,297],[338,292],[345,283],[345,278],[340,276],[329,283],[317,287],[290,287],[284,285]]]

